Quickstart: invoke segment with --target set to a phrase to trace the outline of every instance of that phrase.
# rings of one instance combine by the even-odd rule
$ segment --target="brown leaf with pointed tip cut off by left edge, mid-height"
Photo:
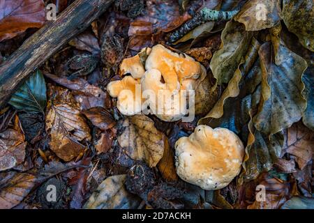
[[[15,115],[13,128],[0,133],[0,171],[15,167],[24,161],[25,148],[24,132],[19,118]]]

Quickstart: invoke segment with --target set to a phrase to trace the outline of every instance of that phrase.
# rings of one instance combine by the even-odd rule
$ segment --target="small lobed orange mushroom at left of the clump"
[[[121,114],[133,116],[141,112],[142,97],[141,93],[136,91],[137,84],[140,84],[137,79],[126,76],[124,79],[110,82],[107,85],[110,96],[118,98],[117,108]]]

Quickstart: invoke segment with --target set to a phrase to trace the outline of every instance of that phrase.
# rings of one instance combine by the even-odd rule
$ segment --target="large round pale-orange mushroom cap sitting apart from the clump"
[[[175,145],[177,174],[204,190],[226,187],[241,171],[244,146],[226,128],[198,125],[189,137]]]

